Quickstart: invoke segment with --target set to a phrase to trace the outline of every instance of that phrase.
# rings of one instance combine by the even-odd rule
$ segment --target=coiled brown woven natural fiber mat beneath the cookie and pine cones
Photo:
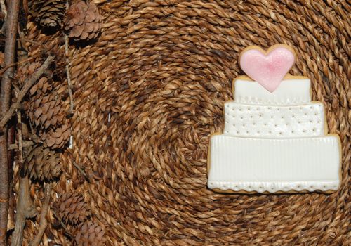
[[[91,2],[102,30],[91,44],[69,46],[73,148],[53,189],[84,195],[107,245],[351,245],[347,1]],[[53,40],[28,26],[39,41]],[[222,131],[223,103],[243,74],[238,55],[277,43],[296,49],[291,73],[310,77],[329,132],[340,136],[341,187],[331,195],[213,193],[208,138]],[[44,240],[72,245],[52,209],[48,219]]]

